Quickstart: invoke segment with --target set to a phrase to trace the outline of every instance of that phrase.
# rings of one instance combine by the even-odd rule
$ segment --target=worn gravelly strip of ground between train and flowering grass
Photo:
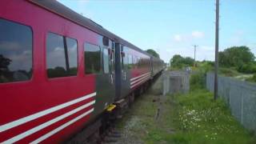
[[[166,104],[166,105],[165,105]],[[154,131],[164,130],[164,133],[171,134],[173,129],[166,126],[166,106],[170,102],[162,96],[162,77],[159,77],[146,94],[139,96],[131,109],[118,122],[117,129],[121,132],[122,138],[116,144],[140,144],[154,142],[162,139]],[[170,125],[170,123],[168,123]],[[161,141],[159,141],[161,142]],[[166,143],[162,141],[161,143]]]

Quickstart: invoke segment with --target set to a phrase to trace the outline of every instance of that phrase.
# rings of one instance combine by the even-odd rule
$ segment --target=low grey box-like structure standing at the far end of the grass
[[[184,71],[165,71],[163,94],[186,93],[190,90],[190,74]]]

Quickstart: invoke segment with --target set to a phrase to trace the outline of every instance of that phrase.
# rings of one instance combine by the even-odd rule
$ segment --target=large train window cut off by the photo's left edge
[[[32,76],[32,30],[0,18],[0,83]]]

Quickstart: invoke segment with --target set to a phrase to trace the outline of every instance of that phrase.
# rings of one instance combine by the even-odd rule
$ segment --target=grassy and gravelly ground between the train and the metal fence
[[[158,102],[154,100],[159,95],[152,91],[144,94],[118,127],[128,129],[127,139],[142,143],[256,143],[253,134],[231,116],[225,103],[221,99],[214,102],[213,94],[203,89],[202,78],[200,74],[193,76],[189,94],[162,97],[158,119]],[[130,124],[134,119],[136,122]]]

